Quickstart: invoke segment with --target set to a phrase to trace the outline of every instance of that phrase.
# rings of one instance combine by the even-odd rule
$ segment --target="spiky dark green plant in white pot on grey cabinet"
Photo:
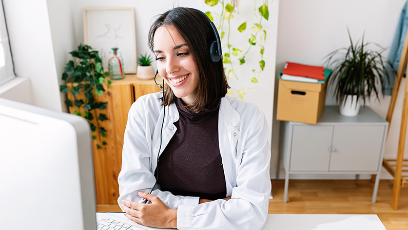
[[[357,116],[361,103],[365,106],[373,93],[379,100],[378,94],[383,92],[384,82],[389,81],[385,66],[390,63],[383,61],[381,54],[385,48],[364,43],[364,35],[361,43],[355,45],[349,31],[348,37],[351,43],[348,48],[337,49],[324,58],[328,68],[333,69],[328,85],[335,87],[333,98],[339,103],[340,113],[353,117]],[[376,45],[379,50],[371,50],[368,45]],[[335,56],[337,58],[333,59]]]

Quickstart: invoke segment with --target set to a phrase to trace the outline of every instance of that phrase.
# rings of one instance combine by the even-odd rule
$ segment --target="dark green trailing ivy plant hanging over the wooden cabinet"
[[[82,116],[87,119],[91,130],[92,139],[96,140],[96,133],[99,133],[99,143],[107,145],[106,139],[107,130],[102,127],[99,121],[108,120],[106,114],[99,112],[98,118],[96,117],[96,109],[104,110],[107,102],[95,101],[94,95],[103,95],[105,89],[102,85],[105,78],[109,76],[108,72],[103,71],[102,59],[98,54],[98,51],[92,50],[90,46],[80,44],[77,50],[70,52],[74,57],[74,61],[69,61],[65,67],[65,71],[62,74],[62,80],[68,81],[71,77],[71,93],[74,98],[73,101],[67,99],[65,104],[68,107],[72,107],[72,113],[77,116]],[[74,83],[76,86],[74,86]],[[108,81],[108,88],[112,82]],[[60,91],[68,93],[69,88],[67,84],[60,86]],[[85,95],[85,98],[80,95]],[[84,113],[80,112],[81,107],[84,109]],[[75,110],[74,110],[75,109]],[[101,149],[101,145],[96,145],[98,149]]]

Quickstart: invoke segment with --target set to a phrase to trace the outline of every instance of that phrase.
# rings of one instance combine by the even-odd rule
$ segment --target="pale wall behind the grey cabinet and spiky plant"
[[[322,58],[325,55],[338,48],[349,46],[347,27],[353,41],[361,39],[365,31],[364,41],[390,47],[404,3],[405,0],[281,1],[276,73],[283,69],[286,61],[322,65]],[[387,53],[385,52],[384,55],[387,56]],[[402,103],[402,100],[400,101]],[[385,118],[389,103],[390,97],[386,96],[381,103],[373,102],[371,107]],[[395,109],[399,119],[395,118],[391,124],[385,146],[385,157],[396,158],[401,103],[397,104]],[[326,104],[335,104],[331,91],[327,93]],[[273,143],[279,139],[275,129],[278,126],[276,124],[274,121]],[[273,155],[277,155],[276,151],[277,149]],[[386,172],[381,177],[390,178]]]

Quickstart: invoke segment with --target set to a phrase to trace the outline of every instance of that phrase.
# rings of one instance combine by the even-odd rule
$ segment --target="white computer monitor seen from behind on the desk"
[[[90,128],[0,98],[0,228],[96,229]]]

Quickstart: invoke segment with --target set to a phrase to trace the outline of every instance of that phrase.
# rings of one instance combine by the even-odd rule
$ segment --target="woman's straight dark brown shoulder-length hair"
[[[222,61],[211,61],[208,43],[216,40],[216,35],[206,16],[194,9],[177,7],[158,15],[150,26],[148,45],[154,50],[154,34],[161,26],[173,26],[180,33],[196,61],[199,70],[197,99],[187,108],[201,111],[204,106],[216,103],[225,96],[229,88]],[[176,95],[166,86],[162,105],[170,105]]]

